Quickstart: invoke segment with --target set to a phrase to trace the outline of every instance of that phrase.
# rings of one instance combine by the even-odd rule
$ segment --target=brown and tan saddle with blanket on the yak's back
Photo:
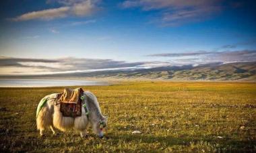
[[[65,88],[63,93],[57,97],[57,103],[60,103],[61,113],[64,117],[77,117],[82,115],[82,100],[80,97],[84,93],[82,88]]]

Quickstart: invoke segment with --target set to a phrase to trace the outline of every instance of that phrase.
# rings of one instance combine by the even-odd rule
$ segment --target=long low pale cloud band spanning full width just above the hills
[[[232,52],[185,52],[150,54],[155,61],[125,62],[93,58],[11,58],[0,57],[0,74],[54,74],[67,72],[92,72],[97,70],[141,69],[161,66],[184,66],[210,63],[256,62],[256,50]],[[158,60],[157,58],[165,58]]]

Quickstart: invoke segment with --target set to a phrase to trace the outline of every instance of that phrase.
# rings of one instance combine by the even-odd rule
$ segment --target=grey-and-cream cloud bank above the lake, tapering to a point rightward
[[[53,60],[36,58],[0,57],[0,74],[52,74],[60,72],[81,72],[118,68],[136,68],[148,62],[125,62],[110,59],[57,58]]]

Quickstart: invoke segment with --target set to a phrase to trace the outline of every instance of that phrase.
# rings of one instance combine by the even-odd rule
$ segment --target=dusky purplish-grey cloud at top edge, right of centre
[[[221,10],[221,0],[129,0],[123,8],[139,7],[143,11],[155,10],[160,17],[156,21],[162,25],[179,25],[190,21],[200,21]]]

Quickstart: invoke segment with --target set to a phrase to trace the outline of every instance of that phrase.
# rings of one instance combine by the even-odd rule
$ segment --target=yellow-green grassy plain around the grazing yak
[[[37,104],[63,87],[0,88],[0,151],[256,152],[255,83],[134,81],[83,88],[108,115],[107,138],[53,136],[50,130],[40,138]]]

